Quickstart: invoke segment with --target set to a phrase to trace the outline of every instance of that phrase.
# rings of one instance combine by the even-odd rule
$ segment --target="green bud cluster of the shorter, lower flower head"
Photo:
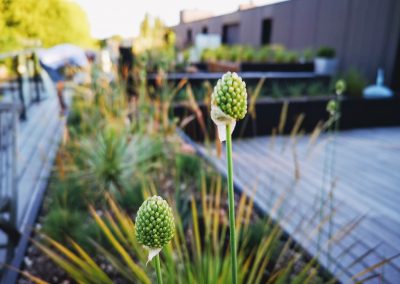
[[[175,233],[174,216],[167,201],[153,196],[140,206],[136,216],[136,238],[149,248],[162,248]]]

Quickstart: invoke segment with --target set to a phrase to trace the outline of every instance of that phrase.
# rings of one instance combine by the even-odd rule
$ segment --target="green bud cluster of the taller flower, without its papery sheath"
[[[218,80],[212,94],[212,103],[235,120],[247,112],[246,83],[235,72],[227,72]]]

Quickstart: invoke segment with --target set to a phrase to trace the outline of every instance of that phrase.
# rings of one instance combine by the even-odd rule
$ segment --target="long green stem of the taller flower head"
[[[229,233],[232,259],[232,284],[237,283],[236,231],[235,231],[235,193],[233,191],[233,162],[231,126],[226,125],[226,162],[228,164]]]

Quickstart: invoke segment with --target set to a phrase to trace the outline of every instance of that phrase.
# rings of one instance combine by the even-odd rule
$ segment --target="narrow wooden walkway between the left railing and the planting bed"
[[[22,236],[11,263],[13,267],[19,267],[23,260],[66,123],[66,117],[60,116],[55,92],[47,93],[45,97],[40,102],[31,104],[27,108],[27,119],[18,123],[17,229]],[[66,93],[67,102],[69,97]],[[6,239],[6,235],[0,231],[0,242],[5,242]],[[5,252],[1,251],[0,263],[4,261]],[[15,279],[15,272],[8,270],[2,279],[6,282],[2,283],[13,283]]]

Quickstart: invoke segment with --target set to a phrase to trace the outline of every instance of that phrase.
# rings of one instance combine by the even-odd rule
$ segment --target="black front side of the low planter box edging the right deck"
[[[273,129],[277,129],[281,111],[285,100],[289,102],[284,134],[289,134],[296,122],[297,117],[304,113],[305,117],[300,129],[310,133],[319,121],[326,121],[328,113],[326,105],[330,97],[315,98],[291,98],[271,100],[260,99],[256,103],[256,118],[249,115],[239,121],[233,133],[234,138],[254,137],[260,135],[271,135]],[[389,99],[363,99],[344,98],[342,100],[342,116],[340,129],[400,126],[400,98]],[[210,138],[215,136],[215,127],[211,121],[207,106],[201,105],[203,117],[206,120],[207,132]],[[179,118],[191,114],[184,106],[176,105],[174,113]],[[196,120],[191,121],[184,129],[193,140],[203,141],[204,134]]]

